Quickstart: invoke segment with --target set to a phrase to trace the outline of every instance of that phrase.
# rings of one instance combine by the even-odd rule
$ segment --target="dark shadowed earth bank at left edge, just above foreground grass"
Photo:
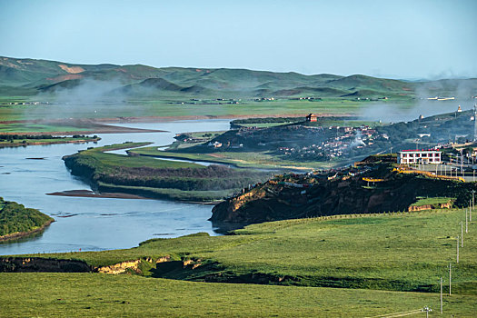
[[[41,257],[0,258],[0,272],[88,273],[93,268],[83,261],[58,260]]]

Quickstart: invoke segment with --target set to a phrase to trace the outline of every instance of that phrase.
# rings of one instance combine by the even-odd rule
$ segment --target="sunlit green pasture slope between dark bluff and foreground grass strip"
[[[129,250],[45,254],[80,259],[94,266],[157,259],[182,262],[170,268],[144,262],[143,274],[207,282],[275,283],[304,286],[437,292],[452,263],[452,291],[477,295],[475,222],[464,233],[460,262],[456,236],[462,210],[370,214],[254,224],[235,235],[193,234],[154,239]],[[447,290],[447,285],[445,285]]]

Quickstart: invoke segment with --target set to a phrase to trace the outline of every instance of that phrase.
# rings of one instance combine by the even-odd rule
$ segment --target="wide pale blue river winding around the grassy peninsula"
[[[0,196],[55,218],[42,234],[0,243],[0,254],[102,251],[131,248],[147,239],[206,232],[218,235],[207,219],[211,205],[148,199],[112,199],[46,195],[65,190],[91,190],[71,175],[62,156],[90,146],[125,141],[171,144],[184,132],[229,129],[229,120],[116,124],[159,129],[165,133],[98,134],[97,144],[50,144],[0,149]],[[44,159],[27,159],[44,158]]]

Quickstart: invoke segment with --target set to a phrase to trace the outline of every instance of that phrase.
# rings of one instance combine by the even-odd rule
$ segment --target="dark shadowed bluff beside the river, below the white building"
[[[376,175],[378,173],[380,175]],[[469,185],[397,174],[389,169],[370,171],[370,174],[382,178],[381,181],[365,182],[365,174],[317,179],[303,187],[305,176],[302,175],[293,176],[290,182],[269,181],[215,205],[211,221],[253,224],[333,214],[408,211],[417,196],[456,197],[466,192],[465,187]]]

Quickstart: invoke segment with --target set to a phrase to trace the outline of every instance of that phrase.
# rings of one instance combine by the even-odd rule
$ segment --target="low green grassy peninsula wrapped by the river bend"
[[[104,193],[136,194],[151,198],[214,202],[268,174],[238,171],[224,166],[204,166],[152,157],[108,154],[108,150],[148,143],[114,144],[64,157],[72,174],[84,176]]]

